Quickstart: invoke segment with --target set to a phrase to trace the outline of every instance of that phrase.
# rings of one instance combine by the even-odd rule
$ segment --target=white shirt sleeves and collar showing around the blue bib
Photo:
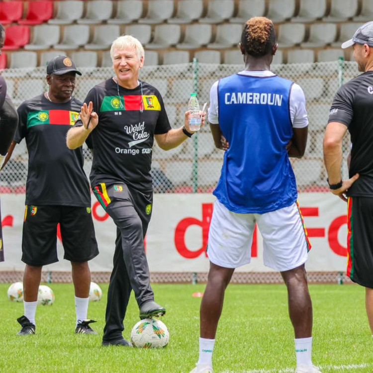
[[[247,75],[252,77],[271,77],[276,74],[271,71],[241,71],[239,75]],[[210,90],[210,107],[208,108],[208,121],[211,124],[219,123],[218,118],[218,88],[219,81],[215,82]],[[303,90],[297,85],[293,84],[290,91],[290,119],[294,128],[303,128],[308,126],[308,116],[306,111],[306,99]]]

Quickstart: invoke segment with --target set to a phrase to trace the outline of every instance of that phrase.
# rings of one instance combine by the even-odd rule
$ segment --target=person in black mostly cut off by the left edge
[[[5,30],[0,24],[0,56],[4,46]],[[0,169],[6,160],[6,153],[17,129],[18,114],[10,97],[6,94],[6,82],[0,75]],[[0,212],[0,262],[4,261]]]

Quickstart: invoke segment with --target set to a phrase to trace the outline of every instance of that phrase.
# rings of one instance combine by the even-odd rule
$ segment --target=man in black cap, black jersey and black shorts
[[[67,131],[75,125],[82,103],[73,97],[76,74],[67,56],[47,65],[49,90],[18,107],[19,125],[9,154],[26,139],[28,174],[22,234],[24,316],[18,335],[35,334],[35,313],[42,267],[58,262],[57,224],[64,259],[72,266],[75,287],[75,333],[97,334],[87,319],[91,272],[88,261],[98,254],[91,214],[91,193],[83,170],[82,147],[66,147]]]

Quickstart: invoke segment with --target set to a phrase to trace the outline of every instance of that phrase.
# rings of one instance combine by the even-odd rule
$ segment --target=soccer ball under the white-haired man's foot
[[[135,347],[166,347],[170,341],[167,326],[160,320],[144,319],[139,321],[131,331],[131,342]]]

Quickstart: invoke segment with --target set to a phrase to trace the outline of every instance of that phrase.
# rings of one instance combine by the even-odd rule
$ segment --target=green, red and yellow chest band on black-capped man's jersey
[[[79,113],[69,110],[31,111],[27,115],[27,128],[42,124],[73,126]]]

